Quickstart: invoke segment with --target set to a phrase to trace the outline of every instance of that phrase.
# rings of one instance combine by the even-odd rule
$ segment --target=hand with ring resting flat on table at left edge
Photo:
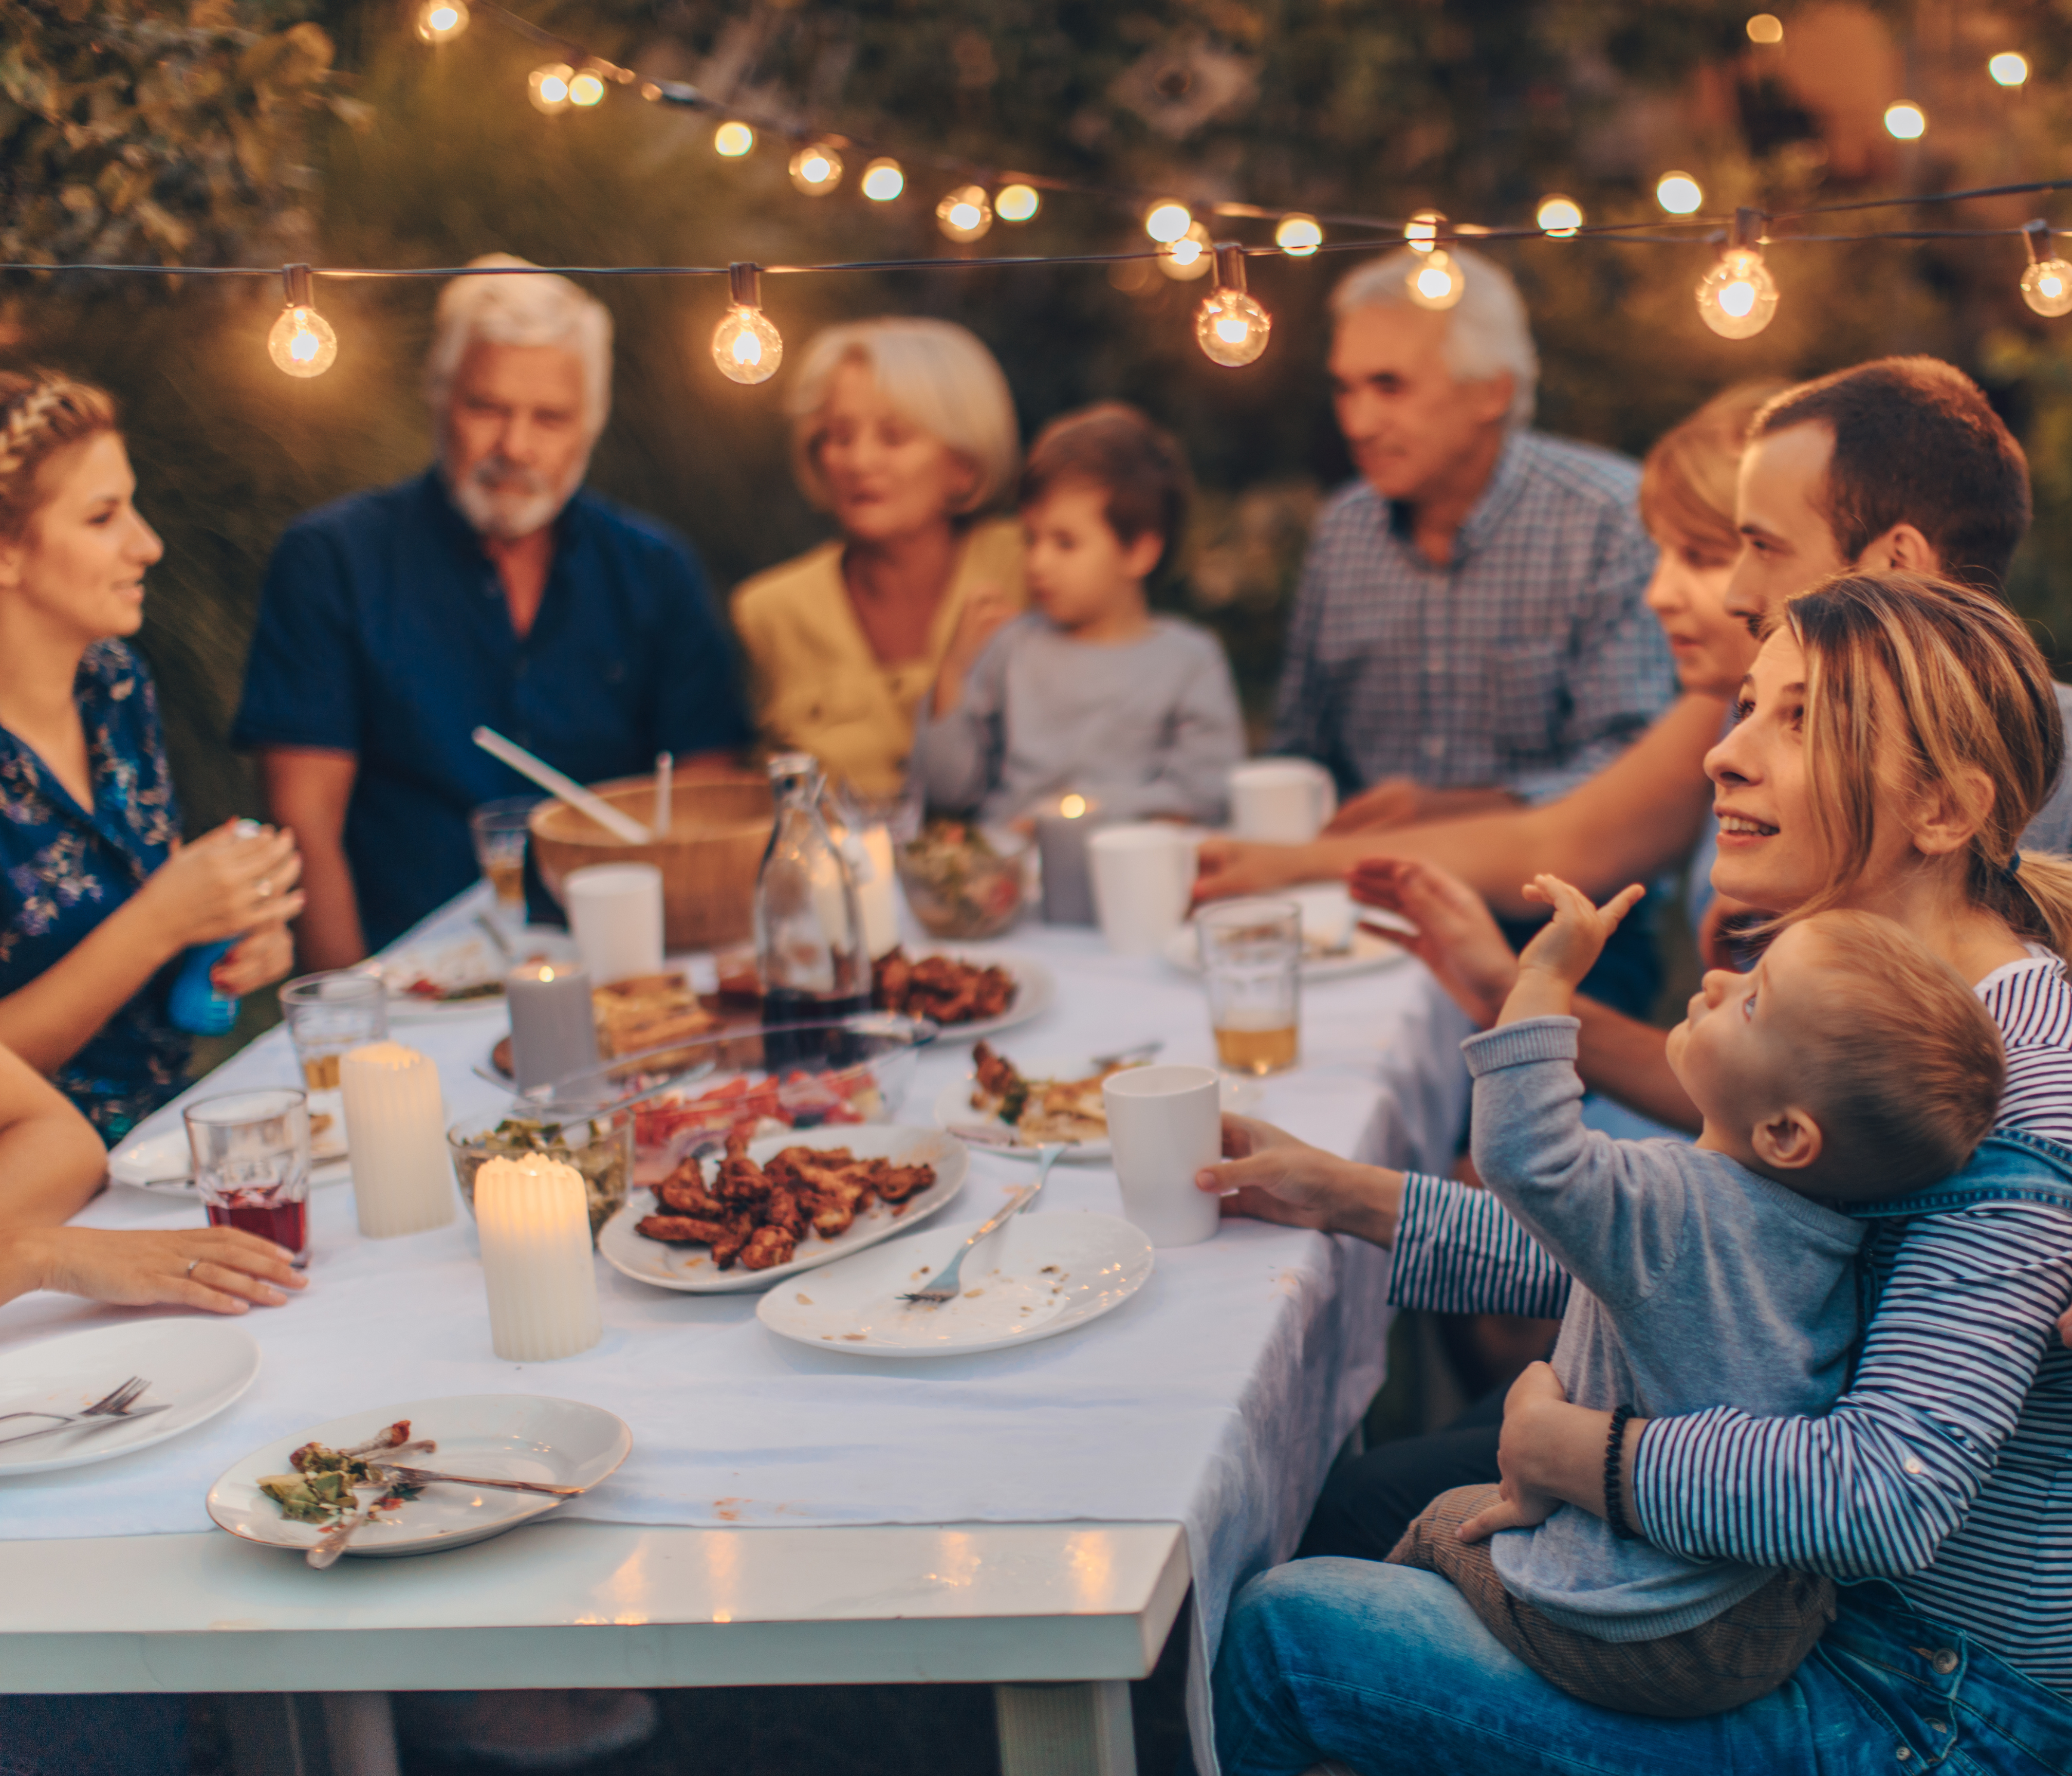
[[[288,1252],[236,1227],[178,1233],[29,1227],[0,1233],[0,1258],[8,1256],[17,1262],[0,1270],[25,1279],[25,1289],[56,1289],[118,1308],[172,1304],[242,1314],[255,1301],[278,1308],[288,1299],[284,1289],[307,1287]]]

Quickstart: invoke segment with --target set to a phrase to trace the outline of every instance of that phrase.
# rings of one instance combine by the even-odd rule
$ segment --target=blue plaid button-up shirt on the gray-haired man
[[[1513,433],[1452,560],[1434,566],[1368,483],[1326,504],[1303,564],[1274,752],[1341,790],[1411,777],[1529,802],[1608,765],[1676,694],[1641,595],[1656,545],[1637,468]]]

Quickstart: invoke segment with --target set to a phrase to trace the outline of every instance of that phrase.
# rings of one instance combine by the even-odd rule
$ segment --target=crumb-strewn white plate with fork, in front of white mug
[[[930,1308],[922,1287],[976,1221],[930,1227],[771,1289],[756,1318],[779,1339],[864,1357],[970,1357],[1034,1345],[1121,1308],[1152,1274],[1152,1243],[1113,1214],[1017,1214],[963,1260],[963,1293]]]

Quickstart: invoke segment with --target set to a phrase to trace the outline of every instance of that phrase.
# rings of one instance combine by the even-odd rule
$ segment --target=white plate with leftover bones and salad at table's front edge
[[[408,1457],[412,1467],[477,1473],[485,1480],[547,1480],[588,1490],[609,1478],[634,1446],[624,1420],[582,1401],[547,1395],[419,1399],[334,1417],[255,1449],[224,1469],[209,1488],[209,1517],[232,1536],[267,1548],[315,1546],[325,1525],[282,1517],[280,1505],[259,1490],[259,1482],[269,1473],[290,1473],[288,1457],[305,1442],[350,1449],[400,1417],[410,1420],[412,1436],[429,1436],[439,1444]],[[553,1511],[557,1502],[562,1500],[539,1492],[427,1486],[416,1498],[354,1529],[346,1552],[429,1554],[437,1548],[464,1548]]]

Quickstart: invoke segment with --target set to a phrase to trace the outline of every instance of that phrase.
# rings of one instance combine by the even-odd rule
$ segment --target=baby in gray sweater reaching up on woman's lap
[[[1859,1333],[1863,1239],[1830,1204],[1902,1196],[1970,1158],[2006,1078],[1993,1020],[1892,920],[1815,914],[1753,972],[1707,974],[1670,1032],[1670,1069],[1705,1119],[1697,1144],[1610,1140],[1583,1127],[1571,1011],[1641,889],[1604,908],[1554,877],[1525,893],[1554,920],[1496,1028],[1461,1049],[1475,1169],[1575,1279],[1554,1347],[1569,1399],[1614,1411],[1614,1449],[1620,1409],[1828,1411]],[[1388,1558],[1442,1573],[1533,1670],[1629,1714],[1765,1695],[1834,1619],[1828,1579],[1633,1538],[1610,1469],[1606,1500],[1610,1521],[1463,1486]]]

